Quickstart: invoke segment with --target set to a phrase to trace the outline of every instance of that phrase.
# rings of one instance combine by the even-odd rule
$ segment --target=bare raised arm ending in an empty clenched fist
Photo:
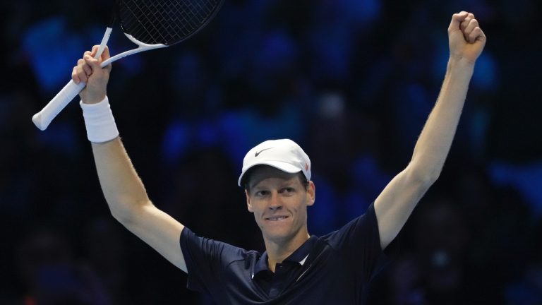
[[[450,59],[435,107],[429,114],[406,168],[376,198],[375,213],[383,249],[395,239],[429,187],[438,179],[469,88],[474,63],[486,36],[472,13],[452,16],[448,28]]]

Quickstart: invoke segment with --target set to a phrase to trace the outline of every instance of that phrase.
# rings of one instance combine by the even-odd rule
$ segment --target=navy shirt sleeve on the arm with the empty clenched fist
[[[327,236],[329,244],[351,267],[360,284],[369,282],[389,262],[380,246],[374,202],[366,213]]]

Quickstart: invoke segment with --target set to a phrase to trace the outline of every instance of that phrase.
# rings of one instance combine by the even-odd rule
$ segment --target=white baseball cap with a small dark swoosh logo
[[[290,139],[266,140],[248,150],[237,182],[239,186],[248,169],[255,165],[269,165],[290,174],[303,172],[307,180],[311,180],[311,160],[303,149]]]

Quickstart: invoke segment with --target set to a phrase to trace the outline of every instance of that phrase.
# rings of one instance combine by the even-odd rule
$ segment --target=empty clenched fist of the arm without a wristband
[[[474,64],[486,45],[486,35],[483,34],[474,14],[462,11],[454,13],[448,27],[450,41],[450,57],[464,59]]]

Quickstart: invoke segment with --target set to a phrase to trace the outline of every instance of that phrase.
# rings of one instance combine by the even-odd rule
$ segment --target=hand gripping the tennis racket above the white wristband
[[[85,104],[95,104],[105,98],[107,90],[107,81],[111,72],[111,65],[104,68],[100,67],[102,61],[109,59],[109,49],[105,47],[100,59],[94,59],[100,46],[92,47],[92,52],[87,51],[83,54],[83,59],[77,61],[77,66],[73,67],[71,78],[75,83],[86,83],[87,86],[79,93],[79,97]]]

